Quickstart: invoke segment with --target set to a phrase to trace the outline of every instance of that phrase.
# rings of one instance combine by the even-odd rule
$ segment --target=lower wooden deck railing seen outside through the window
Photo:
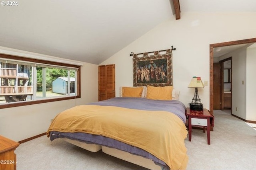
[[[0,86],[0,96],[6,95],[31,95],[33,94],[33,86]]]

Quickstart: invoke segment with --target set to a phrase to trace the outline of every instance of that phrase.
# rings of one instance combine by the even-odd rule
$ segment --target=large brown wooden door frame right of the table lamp
[[[229,41],[224,43],[210,44],[210,112],[213,113],[213,48],[230,45],[256,43],[256,38],[243,39],[238,41]]]

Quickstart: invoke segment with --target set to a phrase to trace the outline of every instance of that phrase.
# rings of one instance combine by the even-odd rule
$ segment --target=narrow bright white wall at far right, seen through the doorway
[[[246,55],[246,120],[256,121],[256,44],[247,48]]]

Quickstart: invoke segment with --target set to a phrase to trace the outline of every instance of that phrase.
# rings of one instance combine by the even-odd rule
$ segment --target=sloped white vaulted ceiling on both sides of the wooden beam
[[[256,12],[256,0],[180,0],[180,8]],[[100,64],[174,19],[172,9],[172,0],[18,0],[0,5],[0,46]]]

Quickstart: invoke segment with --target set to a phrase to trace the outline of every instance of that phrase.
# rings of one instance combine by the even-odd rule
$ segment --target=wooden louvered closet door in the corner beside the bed
[[[98,66],[98,100],[114,98],[115,94],[115,64]]]

